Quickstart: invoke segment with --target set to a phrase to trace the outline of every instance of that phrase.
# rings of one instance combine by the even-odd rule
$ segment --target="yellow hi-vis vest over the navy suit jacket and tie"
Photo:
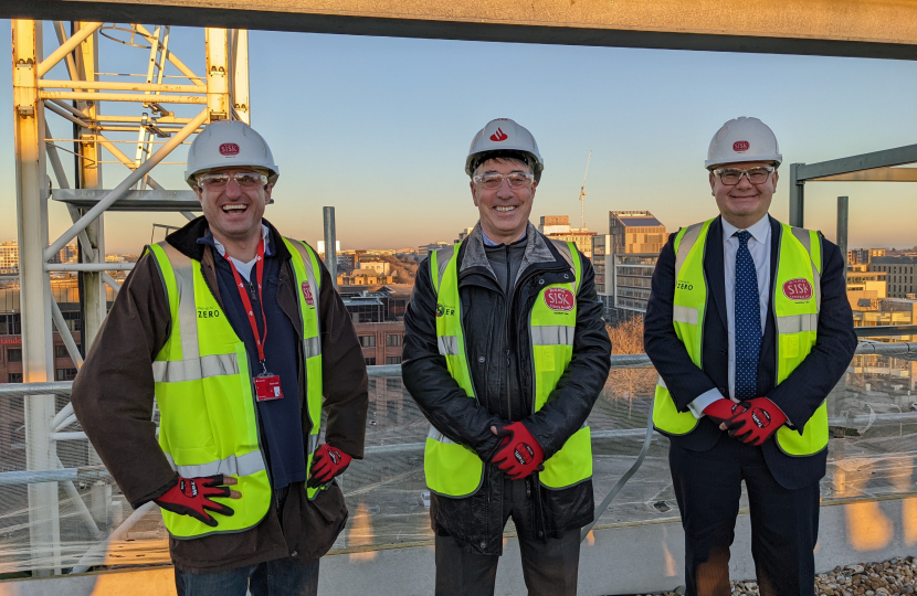
[[[714,220],[683,227],[675,236],[675,300],[672,320],[692,362],[702,368],[704,319],[708,291],[704,276],[707,232]],[[818,232],[782,224],[771,309],[777,321],[777,383],[805,360],[815,345],[821,306],[822,243]],[[697,426],[691,412],[678,412],[662,376],[656,383],[653,424],[667,435],[686,435]],[[803,427],[777,432],[777,445],[791,456],[810,456],[828,447],[828,407],[824,403]]]

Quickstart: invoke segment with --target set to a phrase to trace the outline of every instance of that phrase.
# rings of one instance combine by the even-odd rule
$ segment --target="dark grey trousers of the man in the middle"
[[[580,533],[547,543],[534,538],[526,480],[504,481],[504,524],[510,517],[519,536],[523,577],[529,596],[576,596]],[[436,596],[493,596],[499,556],[466,552],[450,535],[436,535]]]

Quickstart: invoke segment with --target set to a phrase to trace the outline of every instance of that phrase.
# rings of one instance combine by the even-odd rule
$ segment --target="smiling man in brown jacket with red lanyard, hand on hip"
[[[243,123],[198,135],[203,216],[145,251],[73,385],[127,500],[161,508],[181,596],[314,595],[362,457],[360,345],[315,251],[263,219],[278,173]]]

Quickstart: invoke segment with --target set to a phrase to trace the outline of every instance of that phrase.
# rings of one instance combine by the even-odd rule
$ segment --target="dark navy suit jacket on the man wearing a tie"
[[[770,278],[777,274],[780,247],[780,222],[770,217]],[[717,217],[710,224],[704,254],[704,274],[708,284],[707,315],[704,319],[703,370],[694,365],[687,350],[675,334],[672,323],[672,305],[675,296],[676,234],[660,253],[653,274],[653,288],[644,319],[644,345],[646,354],[665,381],[679,412],[688,412],[688,404],[712,389],[728,395],[729,387],[729,333],[726,319],[726,281],[723,262],[723,223]],[[853,315],[846,297],[844,281],[845,262],[837,246],[822,241],[822,305],[819,312],[819,330],[815,347],[805,360],[777,384],[777,327],[773,309],[768,308],[767,322],[758,360],[758,395],[776,403],[793,426],[802,429],[815,409],[850,365],[856,349]],[[773,289],[771,288],[771,292]],[[773,302],[773,294],[770,297]],[[673,445],[695,451],[710,449],[718,440],[735,440],[719,430],[706,416],[700,418],[694,432],[671,437]],[[798,489],[821,479],[825,473],[828,449],[810,457],[790,457],[783,454],[774,440],[761,446],[765,459],[773,477],[788,489]]]

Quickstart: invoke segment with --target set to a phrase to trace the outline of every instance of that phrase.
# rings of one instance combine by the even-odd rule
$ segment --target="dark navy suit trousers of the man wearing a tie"
[[[771,439],[772,440],[772,439]],[[819,483],[781,487],[761,449],[724,436],[707,451],[668,450],[685,529],[687,596],[729,596],[729,546],[741,481],[748,492],[751,556],[761,596],[812,596],[819,538]]]

